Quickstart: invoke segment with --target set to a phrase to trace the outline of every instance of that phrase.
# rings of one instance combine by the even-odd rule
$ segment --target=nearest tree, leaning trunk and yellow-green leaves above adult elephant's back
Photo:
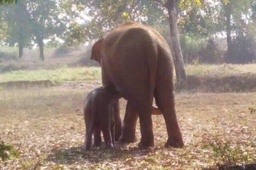
[[[159,21],[162,22],[161,24],[168,23],[177,84],[186,85],[187,77],[179,42],[175,0],[74,0],[74,2],[84,6],[90,19],[84,22],[86,31],[80,31],[82,29],[78,26],[78,29],[73,30],[74,34],[71,32],[70,36],[72,37],[76,37],[76,35],[83,37],[81,35],[84,34],[89,39],[98,38],[126,20],[151,26]],[[82,40],[80,39],[80,41]]]

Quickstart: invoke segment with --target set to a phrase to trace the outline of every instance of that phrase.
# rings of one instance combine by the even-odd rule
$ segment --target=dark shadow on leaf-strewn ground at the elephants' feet
[[[149,152],[155,152],[159,149],[161,148],[154,148],[154,151],[150,149],[140,150],[136,145],[117,144],[114,149],[109,150],[102,143],[100,147],[93,146],[89,151],[84,150],[84,146],[53,149],[51,154],[46,158],[46,161],[68,165],[75,162],[97,164],[105,161],[125,161],[128,158],[144,156]]]

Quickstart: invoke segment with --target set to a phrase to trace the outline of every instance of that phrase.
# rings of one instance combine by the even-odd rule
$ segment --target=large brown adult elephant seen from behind
[[[172,55],[166,40],[156,30],[126,22],[94,44],[91,59],[101,62],[102,83],[114,86],[128,100],[120,141],[135,141],[139,117],[140,147],[154,146],[151,113],[155,97],[166,122],[165,146],[184,145],[174,106]],[[118,102],[115,108],[119,128]]]

